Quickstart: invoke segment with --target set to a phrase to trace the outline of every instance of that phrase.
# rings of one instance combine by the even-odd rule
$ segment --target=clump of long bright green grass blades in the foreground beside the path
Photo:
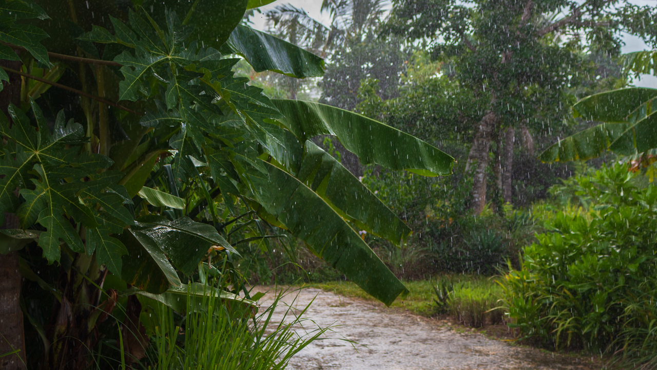
[[[158,369],[172,370],[285,369],[290,357],[313,340],[321,340],[329,328],[309,330],[304,336],[292,330],[294,325],[304,325],[307,321],[304,314],[308,306],[294,313],[294,319],[284,321],[292,317],[292,308],[288,307],[281,323],[273,322],[273,311],[280,309],[283,296],[294,291],[281,290],[275,294],[273,302],[257,317],[235,312],[213,295],[198,304],[188,295],[184,315],[150,302],[148,322],[154,325],[150,361]],[[219,314],[213,314],[213,309]]]

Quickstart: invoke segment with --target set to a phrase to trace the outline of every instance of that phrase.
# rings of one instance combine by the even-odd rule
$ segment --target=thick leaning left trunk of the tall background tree
[[[488,112],[486,116],[479,122],[477,132],[474,135],[474,143],[470,148],[468,161],[466,163],[466,171],[470,169],[470,165],[476,163],[474,170],[474,184],[472,184],[472,205],[471,208],[475,214],[480,214],[486,207],[486,170],[488,168],[489,157],[488,152],[491,145],[492,134],[495,130],[495,121],[497,117],[495,113]]]

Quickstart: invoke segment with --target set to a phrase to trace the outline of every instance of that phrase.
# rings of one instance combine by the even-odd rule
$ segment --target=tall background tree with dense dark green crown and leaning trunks
[[[623,5],[620,10],[619,4]],[[637,31],[637,22],[654,9],[610,1],[581,5],[569,1],[475,1],[473,5],[449,0],[394,1],[387,30],[411,40],[430,40],[432,57],[451,61],[457,78],[472,95],[487,101],[472,128],[467,159],[474,167],[472,208],[478,213],[486,205],[491,147],[512,143],[512,137],[522,133],[526,150],[531,151],[528,132],[539,138],[553,136],[561,129],[567,104],[576,99],[570,89],[596,80],[596,66],[585,57],[585,51],[605,57],[618,55],[618,32]],[[555,17],[560,12],[566,15]],[[650,34],[650,27],[642,32]],[[506,135],[509,138],[501,140]],[[495,145],[496,141],[500,145]],[[512,171],[508,160],[512,147],[504,145],[504,150],[507,154],[495,155],[495,159],[503,157],[508,163],[495,164],[503,171],[494,172]],[[507,189],[503,194],[509,201],[510,177],[502,178]]]

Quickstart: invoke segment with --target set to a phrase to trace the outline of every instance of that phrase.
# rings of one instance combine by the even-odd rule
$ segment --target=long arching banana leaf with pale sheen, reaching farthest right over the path
[[[451,174],[454,158],[440,149],[376,120],[311,101],[275,99],[281,124],[300,142],[317,135],[337,136],[361,163],[423,176]]]

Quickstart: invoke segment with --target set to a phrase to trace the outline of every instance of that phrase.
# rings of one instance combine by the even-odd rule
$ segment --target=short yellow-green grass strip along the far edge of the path
[[[451,302],[449,311],[452,315],[456,315],[458,311],[461,311],[465,316],[469,311],[476,313],[482,311],[484,307],[487,307],[486,310],[497,307],[496,302],[501,298],[502,289],[495,282],[495,278],[479,275],[451,275],[429,280],[404,281],[404,285],[409,288],[410,292],[403,300],[397,298],[392,307],[401,308],[425,317],[440,313],[438,305],[434,301],[434,299],[437,299],[434,287],[445,280],[451,280],[454,288],[451,300],[449,300]],[[319,287],[344,296],[376,301],[350,281],[323,282],[319,284]]]

